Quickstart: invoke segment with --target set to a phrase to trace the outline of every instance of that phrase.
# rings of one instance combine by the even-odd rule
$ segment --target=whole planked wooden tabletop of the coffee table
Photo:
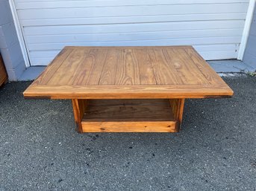
[[[24,92],[51,99],[229,97],[191,46],[65,47]]]

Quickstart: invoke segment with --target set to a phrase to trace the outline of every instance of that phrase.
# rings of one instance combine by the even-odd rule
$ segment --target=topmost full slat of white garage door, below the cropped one
[[[18,10],[23,19],[63,19],[98,16],[140,16],[140,15],[173,15],[196,13],[243,13],[247,3],[236,4],[173,4],[154,6],[123,6],[123,7],[72,7],[55,9]]]

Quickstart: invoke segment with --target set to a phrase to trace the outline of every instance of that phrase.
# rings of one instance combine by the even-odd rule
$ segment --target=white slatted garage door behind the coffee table
[[[237,58],[249,0],[14,0],[31,65],[66,45],[193,45]]]

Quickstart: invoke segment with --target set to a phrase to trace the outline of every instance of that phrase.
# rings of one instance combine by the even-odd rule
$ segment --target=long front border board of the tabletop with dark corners
[[[29,86],[23,95],[51,99],[171,99],[231,97],[233,91],[228,85],[34,85]]]

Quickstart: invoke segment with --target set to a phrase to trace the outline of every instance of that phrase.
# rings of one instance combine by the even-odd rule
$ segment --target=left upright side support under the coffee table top
[[[83,120],[84,112],[87,109],[87,105],[88,105],[88,100],[78,100],[78,99],[72,100],[75,123],[77,126],[76,131],[80,133],[83,132],[81,121]]]

